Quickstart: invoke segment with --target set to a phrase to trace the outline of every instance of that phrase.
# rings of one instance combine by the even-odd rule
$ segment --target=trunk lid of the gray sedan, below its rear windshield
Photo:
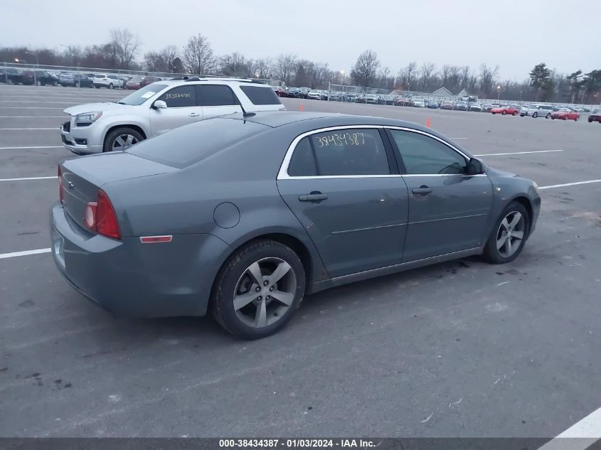
[[[60,164],[63,208],[70,218],[85,228],[87,203],[97,201],[98,189],[105,184],[176,170],[120,151],[67,159]]]

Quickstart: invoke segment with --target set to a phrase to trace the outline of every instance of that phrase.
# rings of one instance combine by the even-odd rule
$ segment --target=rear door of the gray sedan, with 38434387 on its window
[[[301,135],[277,177],[331,277],[402,259],[407,186],[380,130],[336,127]]]

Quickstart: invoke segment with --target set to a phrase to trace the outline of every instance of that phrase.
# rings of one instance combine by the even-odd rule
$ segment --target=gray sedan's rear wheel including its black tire
[[[260,339],[279,331],[304,297],[305,273],[298,255],[273,240],[243,246],[220,269],[211,312],[225,331]]]

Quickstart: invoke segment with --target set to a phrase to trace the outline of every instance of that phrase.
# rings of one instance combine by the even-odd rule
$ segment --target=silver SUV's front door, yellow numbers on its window
[[[203,119],[203,109],[196,100],[195,85],[172,87],[156,100],[163,100],[167,107],[150,109],[152,136]]]

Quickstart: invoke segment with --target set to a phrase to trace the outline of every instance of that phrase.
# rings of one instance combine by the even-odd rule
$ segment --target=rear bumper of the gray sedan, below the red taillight
[[[206,314],[216,255],[228,250],[213,235],[177,235],[155,244],[91,235],[60,204],[52,210],[50,233],[65,279],[102,308],[132,317]]]

